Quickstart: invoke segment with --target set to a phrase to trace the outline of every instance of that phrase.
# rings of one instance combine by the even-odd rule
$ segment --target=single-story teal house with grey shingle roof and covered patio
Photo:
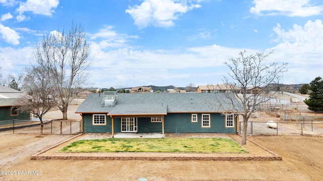
[[[231,94],[233,109],[227,95],[104,92],[90,94],[75,113],[84,133],[237,133],[242,107]]]

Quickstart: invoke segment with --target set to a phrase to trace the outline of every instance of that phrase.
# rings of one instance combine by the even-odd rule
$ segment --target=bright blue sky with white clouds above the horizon
[[[90,45],[86,87],[223,83],[230,58],[270,52],[281,83],[323,76],[323,2],[316,0],[0,0],[3,79],[32,62],[43,35],[81,24]]]

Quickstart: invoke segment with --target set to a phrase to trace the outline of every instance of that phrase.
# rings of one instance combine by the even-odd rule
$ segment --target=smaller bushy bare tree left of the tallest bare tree
[[[43,127],[42,117],[53,107],[55,107],[56,90],[51,87],[49,74],[42,67],[26,68],[25,92],[26,96],[19,99],[15,104],[21,112],[36,115],[41,124],[41,134]]]

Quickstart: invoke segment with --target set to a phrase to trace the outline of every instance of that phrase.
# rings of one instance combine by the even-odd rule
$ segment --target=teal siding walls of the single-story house
[[[204,113],[203,113],[204,114]],[[197,122],[191,122],[190,113],[169,113],[164,117],[165,133],[236,133],[237,119],[235,117],[234,127],[226,128],[225,116],[219,113],[210,114],[210,128],[202,128],[202,114],[197,114]],[[92,114],[83,114],[84,133],[106,133],[112,132],[112,121],[106,116],[106,125],[92,125]],[[138,118],[138,132],[161,132],[161,123],[154,123],[148,118]],[[114,118],[114,132],[121,132],[121,118]]]

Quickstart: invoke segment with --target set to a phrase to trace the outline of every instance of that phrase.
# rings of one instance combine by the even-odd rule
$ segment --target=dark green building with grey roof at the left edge
[[[0,85],[0,121],[13,119],[30,120],[29,113],[18,112],[15,106],[17,101],[22,99],[23,96],[24,93],[20,91]]]

